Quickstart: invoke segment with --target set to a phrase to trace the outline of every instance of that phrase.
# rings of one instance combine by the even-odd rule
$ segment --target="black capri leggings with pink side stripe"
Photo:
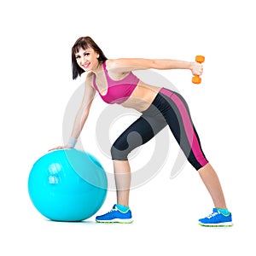
[[[187,103],[177,92],[165,88],[160,90],[149,108],[113,143],[112,159],[128,160],[128,154],[134,148],[147,143],[166,125],[169,125],[177,143],[196,170],[207,165]]]

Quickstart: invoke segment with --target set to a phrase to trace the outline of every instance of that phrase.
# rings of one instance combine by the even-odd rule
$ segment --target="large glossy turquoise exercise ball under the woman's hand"
[[[55,221],[90,218],[106,199],[108,179],[92,154],[74,148],[51,151],[39,158],[28,177],[31,201]]]

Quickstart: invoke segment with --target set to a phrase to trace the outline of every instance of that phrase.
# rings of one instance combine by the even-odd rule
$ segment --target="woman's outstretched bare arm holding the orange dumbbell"
[[[130,72],[142,69],[189,69],[194,75],[201,75],[202,65],[197,62],[178,61],[170,59],[115,59],[109,60],[111,68],[120,72]]]

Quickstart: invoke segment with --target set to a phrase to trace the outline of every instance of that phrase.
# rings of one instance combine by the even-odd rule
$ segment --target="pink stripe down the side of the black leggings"
[[[169,96],[172,99],[172,101],[176,104],[179,113],[181,114],[181,117],[183,119],[184,129],[189,140],[190,148],[192,149],[192,152],[195,155],[195,159],[201,164],[201,166],[205,166],[208,163],[208,161],[201,152],[200,143],[198,142],[198,139],[195,135],[195,131],[190,121],[190,116],[187,108],[184,106],[182,100],[172,91],[163,88],[160,90],[160,92],[162,92],[166,96]]]

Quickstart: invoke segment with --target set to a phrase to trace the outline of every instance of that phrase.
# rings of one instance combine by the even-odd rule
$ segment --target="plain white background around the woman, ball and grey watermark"
[[[253,1],[14,0],[0,7],[1,255],[255,255]],[[212,201],[189,164],[170,179],[178,151],[172,138],[161,172],[131,190],[131,225],[95,224],[95,216],[83,223],[55,223],[32,206],[27,178],[41,155],[62,144],[67,102],[84,79],[72,80],[71,47],[87,35],[108,58],[194,61],[195,55],[206,56],[201,85],[191,83],[189,71],[159,73],[189,103],[234,227],[197,224],[212,211]],[[97,99],[90,119],[97,119],[102,108],[106,104]],[[90,119],[84,148],[113,172],[111,161],[90,148],[96,144]],[[114,202],[109,191],[98,213]]]

